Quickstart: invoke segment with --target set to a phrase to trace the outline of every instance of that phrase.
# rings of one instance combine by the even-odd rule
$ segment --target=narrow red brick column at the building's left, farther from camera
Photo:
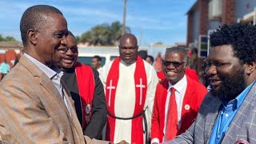
[[[208,1],[198,0],[199,7],[199,34],[207,34],[208,31]]]

